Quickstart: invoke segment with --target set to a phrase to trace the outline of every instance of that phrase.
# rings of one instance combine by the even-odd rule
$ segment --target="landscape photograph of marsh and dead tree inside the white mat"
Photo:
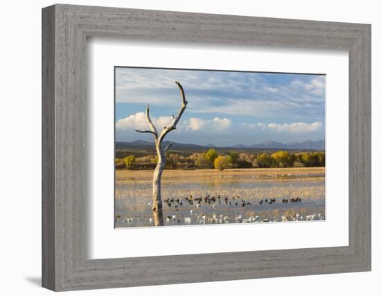
[[[326,219],[320,73],[114,67],[114,225]]]

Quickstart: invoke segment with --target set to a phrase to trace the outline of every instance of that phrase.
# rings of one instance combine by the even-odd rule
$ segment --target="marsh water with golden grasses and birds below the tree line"
[[[116,170],[115,227],[154,226],[152,173]],[[164,170],[161,196],[165,225],[326,218],[324,168]]]

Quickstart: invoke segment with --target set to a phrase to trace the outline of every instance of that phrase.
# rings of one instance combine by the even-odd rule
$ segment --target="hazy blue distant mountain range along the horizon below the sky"
[[[163,145],[166,146],[170,143],[169,141],[164,141]],[[153,148],[154,142],[150,141],[142,141],[142,140],[136,140],[132,142],[116,142],[116,147],[118,148]],[[211,143],[208,145],[202,146],[197,144],[190,144],[190,143],[176,143],[172,142],[172,148],[173,149],[195,149],[195,150],[202,150],[205,148],[243,148],[243,149],[293,149],[293,150],[325,150],[326,148],[326,142],[324,140],[318,140],[318,141],[312,141],[307,140],[303,142],[293,142],[293,143],[280,143],[276,141],[265,141],[263,143],[254,144],[254,145],[234,145],[234,146],[224,146],[219,147],[215,146]]]

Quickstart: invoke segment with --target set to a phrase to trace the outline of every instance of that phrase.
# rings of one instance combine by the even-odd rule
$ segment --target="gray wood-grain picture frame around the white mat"
[[[87,259],[87,37],[348,50],[349,245]],[[80,290],[371,270],[369,24],[49,6],[42,10],[42,115],[45,288]]]

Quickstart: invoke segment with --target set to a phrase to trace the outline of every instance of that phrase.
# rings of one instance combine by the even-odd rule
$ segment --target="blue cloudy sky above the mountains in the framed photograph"
[[[116,141],[143,139],[150,104],[158,130],[188,105],[166,139],[215,146],[324,139],[325,76],[116,67]]]

